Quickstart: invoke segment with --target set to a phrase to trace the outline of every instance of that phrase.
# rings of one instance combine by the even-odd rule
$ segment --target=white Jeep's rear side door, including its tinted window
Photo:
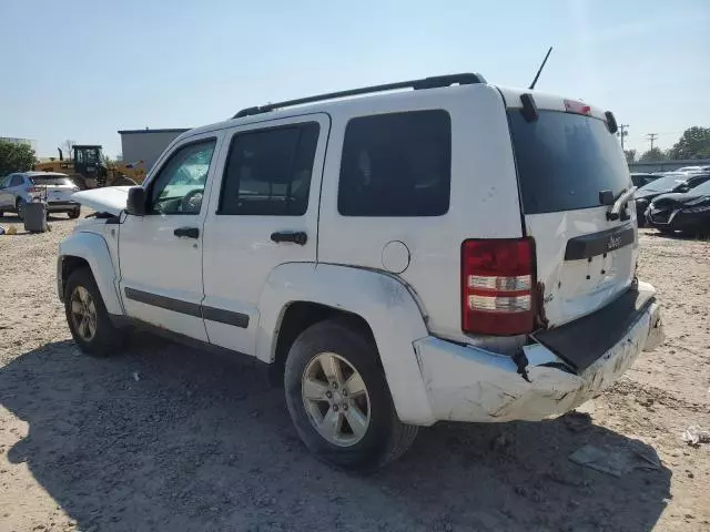
[[[226,131],[222,183],[204,225],[203,313],[212,344],[254,355],[258,297],[271,272],[316,262],[329,126],[327,114],[312,114]]]

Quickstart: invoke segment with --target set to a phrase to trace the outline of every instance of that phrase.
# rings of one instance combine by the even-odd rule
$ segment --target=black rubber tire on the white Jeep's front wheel
[[[88,327],[91,327],[93,321],[93,335],[90,337],[85,334],[87,329],[82,327],[82,321],[77,319],[78,315],[72,311],[75,298],[82,299],[81,295],[83,293],[81,290],[85,290],[91,298],[90,301],[93,304],[94,318],[93,320],[89,319],[88,324]],[[90,305],[88,306],[90,307]],[[79,268],[67,279],[64,311],[71,336],[83,352],[93,357],[108,357],[120,351],[123,345],[123,335],[111,323],[99,287],[89,268]],[[91,329],[88,331],[91,332]]]

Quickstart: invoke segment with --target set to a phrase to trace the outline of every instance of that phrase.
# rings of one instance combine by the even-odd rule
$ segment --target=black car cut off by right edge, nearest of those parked
[[[710,181],[706,180],[687,192],[657,196],[646,212],[646,223],[661,233],[709,234]]]

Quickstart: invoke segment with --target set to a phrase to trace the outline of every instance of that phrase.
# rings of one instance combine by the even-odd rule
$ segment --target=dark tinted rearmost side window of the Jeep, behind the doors
[[[337,209],[344,216],[440,216],[449,205],[446,111],[353,119],[345,129]]]

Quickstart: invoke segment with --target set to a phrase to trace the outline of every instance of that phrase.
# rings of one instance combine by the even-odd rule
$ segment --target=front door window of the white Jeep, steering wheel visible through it
[[[152,214],[200,214],[215,139],[181,147],[168,160],[150,191]]]

